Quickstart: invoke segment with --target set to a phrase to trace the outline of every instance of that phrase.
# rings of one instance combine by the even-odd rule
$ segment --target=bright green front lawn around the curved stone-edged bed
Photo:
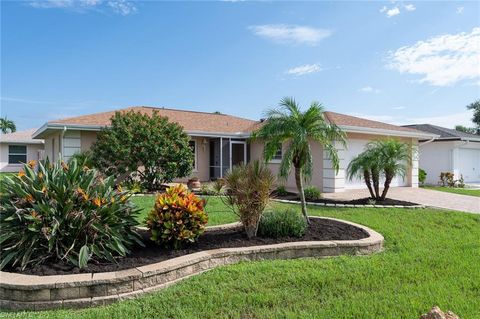
[[[149,207],[148,198],[135,198]],[[217,198],[210,225],[232,222]],[[283,209],[299,206],[274,204]],[[433,305],[480,318],[480,215],[433,209],[310,207],[382,233],[371,256],[245,262],[106,307],[3,318],[418,318]]]

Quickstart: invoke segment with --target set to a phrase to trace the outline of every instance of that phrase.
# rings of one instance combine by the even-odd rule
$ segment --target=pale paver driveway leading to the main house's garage
[[[343,193],[324,193],[322,195],[325,198],[344,200],[370,196],[366,189],[346,190]],[[388,191],[387,197],[425,206],[480,214],[480,198],[475,196],[452,194],[423,188],[394,187]]]

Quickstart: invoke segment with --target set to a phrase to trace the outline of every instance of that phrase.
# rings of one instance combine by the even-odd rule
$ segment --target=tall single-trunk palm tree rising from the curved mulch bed
[[[324,109],[318,102],[312,102],[305,112],[293,98],[283,98],[279,108],[268,110],[265,124],[252,134],[252,139],[265,142],[264,159],[273,159],[283,144],[286,150],[280,163],[279,177],[287,179],[292,166],[295,171],[295,183],[302,203],[302,214],[309,222],[305,203],[304,182],[312,177],[313,160],[310,141],[323,145],[338,172],[339,157],[335,141],[346,145],[346,135],[340,128],[325,120]]]

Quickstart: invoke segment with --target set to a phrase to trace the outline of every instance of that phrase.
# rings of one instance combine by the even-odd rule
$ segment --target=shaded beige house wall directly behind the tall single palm
[[[315,186],[318,189],[322,190],[323,188],[323,148],[320,144],[316,142],[312,142],[310,144],[313,153],[313,174],[310,183],[307,183],[306,186]],[[283,150],[285,150],[286,145],[283,145]],[[263,160],[263,144],[260,142],[255,142],[250,144],[250,159],[251,160]],[[278,172],[280,169],[280,162],[279,161],[271,161],[267,164],[270,170],[274,173],[275,176],[278,176]],[[295,183],[295,174],[292,168],[290,175],[286,181],[277,180],[277,185],[284,185],[288,191],[295,192],[297,190],[297,186]]]

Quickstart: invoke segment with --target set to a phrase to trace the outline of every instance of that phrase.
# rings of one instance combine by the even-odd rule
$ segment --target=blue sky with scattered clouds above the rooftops
[[[20,129],[132,105],[259,119],[284,96],[469,125],[479,2],[2,1],[1,115]]]

